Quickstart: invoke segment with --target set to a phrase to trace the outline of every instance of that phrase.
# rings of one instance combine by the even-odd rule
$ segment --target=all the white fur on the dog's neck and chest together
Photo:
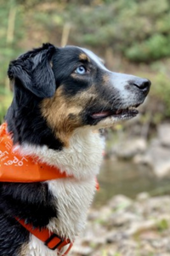
[[[94,197],[95,177],[99,173],[104,146],[98,133],[89,128],[81,128],[71,137],[70,147],[61,151],[30,145],[24,145],[21,149],[22,154],[34,154],[42,162],[58,166],[61,172],[65,171],[72,176],[47,181],[48,188],[56,198],[59,213],[58,218],[52,219],[48,224],[48,229],[59,236],[74,240],[84,228],[88,207]],[[46,248],[43,248],[42,243],[36,241],[34,237],[31,238],[31,256],[54,255],[52,252],[45,252]]]

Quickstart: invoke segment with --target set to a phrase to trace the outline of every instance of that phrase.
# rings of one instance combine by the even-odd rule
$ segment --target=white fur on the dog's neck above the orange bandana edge
[[[98,174],[104,147],[104,139],[99,133],[87,127],[74,131],[69,147],[61,151],[25,143],[20,147],[20,152],[34,155],[49,166],[57,166],[69,176],[86,179]]]

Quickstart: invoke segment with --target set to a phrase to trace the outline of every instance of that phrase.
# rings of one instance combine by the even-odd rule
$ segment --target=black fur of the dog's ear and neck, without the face
[[[54,73],[49,61],[56,49],[43,44],[12,61],[8,67],[9,79],[14,80],[14,100],[8,109],[6,121],[14,143],[47,145],[60,150],[63,144],[42,118],[42,98],[54,95],[56,90]]]

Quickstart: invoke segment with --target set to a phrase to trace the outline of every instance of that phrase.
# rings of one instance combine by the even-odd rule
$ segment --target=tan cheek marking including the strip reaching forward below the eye
[[[73,131],[83,125],[82,111],[91,102],[94,102],[95,105],[98,98],[94,85],[71,97],[65,96],[62,85],[60,85],[52,98],[46,98],[42,101],[42,116],[54,131],[55,137],[58,137],[65,147],[69,147],[69,140]]]

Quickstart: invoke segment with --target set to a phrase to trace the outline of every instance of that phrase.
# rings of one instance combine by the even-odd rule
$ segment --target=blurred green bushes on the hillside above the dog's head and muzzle
[[[73,44],[124,55],[130,61],[154,61],[170,56],[170,3],[162,0],[17,1],[34,8],[29,20],[37,27],[62,33],[71,26]],[[24,4],[23,4],[24,3]],[[49,19],[50,16],[50,19]],[[27,19],[27,18],[26,18]],[[76,35],[76,36],[75,36]],[[57,39],[56,39],[57,40]]]

